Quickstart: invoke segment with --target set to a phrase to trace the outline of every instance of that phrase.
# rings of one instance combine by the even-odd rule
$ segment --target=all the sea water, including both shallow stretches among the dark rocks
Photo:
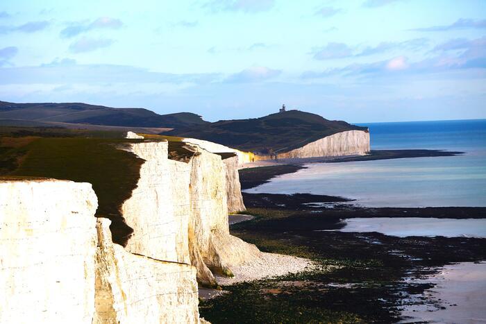
[[[486,119],[363,123],[371,149],[425,148],[461,151],[449,157],[314,163],[252,189],[250,193],[310,193],[353,198],[363,207],[485,207]],[[344,232],[382,232],[397,237],[486,237],[486,219],[346,219]],[[401,323],[486,323],[486,263],[461,262],[437,269],[424,296],[437,305],[408,305]],[[412,303],[414,304],[414,303]]]

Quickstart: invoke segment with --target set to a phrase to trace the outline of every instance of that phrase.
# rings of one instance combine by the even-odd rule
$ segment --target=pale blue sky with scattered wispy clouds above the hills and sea
[[[484,0],[1,0],[0,101],[486,118]]]

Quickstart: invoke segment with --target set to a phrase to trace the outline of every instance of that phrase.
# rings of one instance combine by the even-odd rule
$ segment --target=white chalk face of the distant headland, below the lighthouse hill
[[[298,157],[325,157],[337,155],[364,155],[369,153],[369,133],[363,130],[348,130],[318,139],[301,148],[278,153],[279,159]]]

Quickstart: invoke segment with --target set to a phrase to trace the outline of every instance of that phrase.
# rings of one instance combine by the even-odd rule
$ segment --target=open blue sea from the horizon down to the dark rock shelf
[[[486,207],[486,120],[367,123],[372,149],[462,151],[416,157],[308,164],[251,193],[312,193],[356,199],[367,207]]]

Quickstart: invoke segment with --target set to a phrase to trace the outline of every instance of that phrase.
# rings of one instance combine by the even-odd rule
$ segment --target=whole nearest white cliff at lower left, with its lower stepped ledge
[[[196,269],[112,244],[87,183],[0,182],[0,323],[199,323]]]

